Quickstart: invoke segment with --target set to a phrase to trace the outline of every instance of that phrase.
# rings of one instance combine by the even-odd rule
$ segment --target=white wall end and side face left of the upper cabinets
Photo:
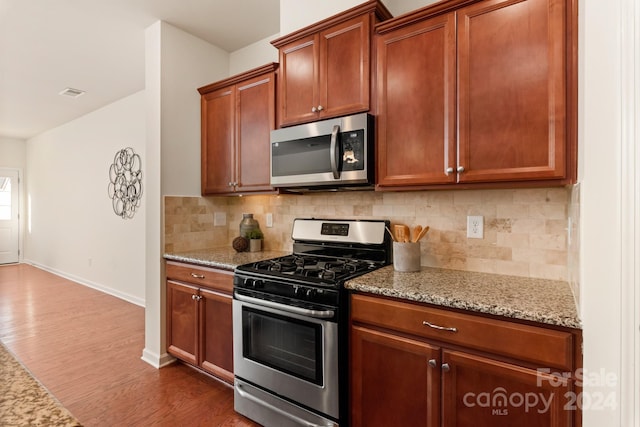
[[[171,361],[165,343],[162,213],[165,195],[200,195],[200,94],[197,88],[229,73],[229,54],[158,21],[145,31],[147,191],[145,348],[142,359]]]

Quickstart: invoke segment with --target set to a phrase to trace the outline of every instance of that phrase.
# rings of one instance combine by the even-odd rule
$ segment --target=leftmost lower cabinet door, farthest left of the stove
[[[198,355],[198,288],[167,281],[167,351],[191,364]]]

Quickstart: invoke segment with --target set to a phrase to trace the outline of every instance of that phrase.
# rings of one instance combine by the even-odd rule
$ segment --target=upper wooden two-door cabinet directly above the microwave
[[[279,50],[280,126],[370,109],[374,25],[391,17],[378,1],[271,42]]]

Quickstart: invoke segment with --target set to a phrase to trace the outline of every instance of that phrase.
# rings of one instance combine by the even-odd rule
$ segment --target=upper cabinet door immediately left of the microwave
[[[236,86],[238,191],[272,190],[269,133],[275,127],[274,79],[275,73],[269,73]]]

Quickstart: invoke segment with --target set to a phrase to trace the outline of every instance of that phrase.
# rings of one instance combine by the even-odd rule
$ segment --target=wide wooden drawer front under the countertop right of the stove
[[[351,319],[540,367],[572,368],[573,335],[570,332],[357,294],[351,297]]]

